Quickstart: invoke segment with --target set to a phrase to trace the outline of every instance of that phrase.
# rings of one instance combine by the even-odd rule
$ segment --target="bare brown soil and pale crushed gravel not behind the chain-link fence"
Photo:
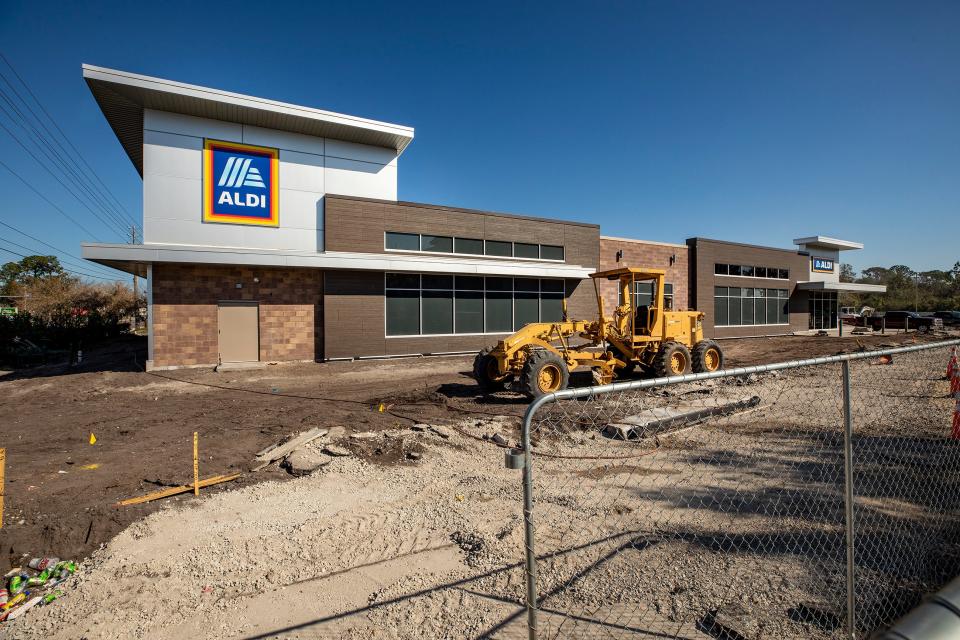
[[[913,340],[784,337],[723,346],[728,366],[741,366],[906,339]],[[180,625],[207,629],[209,637],[280,629],[293,636],[326,637],[335,629],[361,637],[364,629],[368,635],[383,628],[377,625],[417,615],[423,616],[418,624],[435,631],[424,637],[522,630],[518,478],[502,469],[500,449],[482,438],[498,432],[514,440],[526,402],[510,392],[478,395],[470,358],[145,373],[143,351],[142,341],[130,339],[94,351],[79,368],[0,376],[5,564],[46,554],[81,559],[123,532],[86,566],[87,572],[97,567],[96,580],[122,585],[122,592],[87,587],[74,600],[79,608],[64,609],[70,617],[52,619],[61,631],[74,632],[62,637],[179,637]],[[416,423],[456,429],[443,438],[410,431]],[[337,440],[353,455],[296,480],[275,466],[248,472],[256,451],[314,426],[344,427]],[[189,482],[194,431],[201,477],[239,471],[239,481],[204,490],[199,499],[115,506]],[[379,435],[349,437],[369,431]],[[90,433],[95,445],[88,444]],[[131,573],[132,579],[121,579]],[[71,588],[83,592],[86,575]],[[448,582],[453,586],[437,590]],[[336,595],[338,584],[360,588]],[[478,595],[470,584],[494,588]],[[408,596],[418,586],[431,593],[411,608]],[[314,604],[304,610],[295,598],[300,605],[278,607],[291,588]],[[358,593],[369,602],[354,601]],[[112,617],[101,618],[90,613],[98,597],[136,606],[125,613],[111,607],[103,615]],[[165,609],[193,601],[201,605],[197,611]],[[238,609],[249,615],[238,620]],[[222,633],[204,626],[211,615]],[[82,624],[65,626],[63,620],[77,616]],[[150,624],[141,628],[146,618]],[[409,636],[398,631],[394,637]]]

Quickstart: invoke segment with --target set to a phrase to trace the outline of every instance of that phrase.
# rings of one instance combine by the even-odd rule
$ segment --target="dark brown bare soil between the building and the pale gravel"
[[[726,340],[723,347],[727,366],[745,366],[904,339],[779,337]],[[115,503],[192,481],[194,431],[200,438],[200,474],[207,477],[246,472],[255,452],[310,427],[381,431],[469,416],[519,417],[526,407],[516,394],[478,395],[467,357],[284,364],[224,373],[146,373],[145,357],[145,340],[129,338],[88,353],[80,367],[0,375],[0,442],[7,456],[0,568],[17,566],[31,554],[80,559],[159,508]],[[589,384],[589,376],[575,377],[574,383]],[[386,412],[377,410],[380,403]],[[92,446],[90,433],[97,438]],[[396,448],[350,446],[374,462],[412,464]],[[287,478],[272,466],[205,493]]]

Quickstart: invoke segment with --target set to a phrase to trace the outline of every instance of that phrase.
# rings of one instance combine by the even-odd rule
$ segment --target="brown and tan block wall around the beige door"
[[[238,300],[259,303],[261,360],[323,357],[319,270],[154,264],[152,287],[154,366],[216,364],[217,304]]]

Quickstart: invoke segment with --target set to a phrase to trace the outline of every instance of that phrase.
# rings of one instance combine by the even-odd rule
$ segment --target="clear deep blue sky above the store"
[[[404,200],[670,242],[832,235],[866,244],[857,269],[960,260],[955,1],[0,3],[0,50],[138,218],[83,62],[414,126]],[[120,240],[2,130],[0,159]],[[87,234],[2,168],[0,188],[0,221],[79,254]]]

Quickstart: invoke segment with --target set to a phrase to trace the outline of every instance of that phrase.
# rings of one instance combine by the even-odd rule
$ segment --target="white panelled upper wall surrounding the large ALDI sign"
[[[203,139],[280,149],[279,227],[203,222]],[[341,156],[325,155],[335,151]],[[218,120],[145,110],[146,244],[323,251],[326,193],[396,200],[396,152]]]

